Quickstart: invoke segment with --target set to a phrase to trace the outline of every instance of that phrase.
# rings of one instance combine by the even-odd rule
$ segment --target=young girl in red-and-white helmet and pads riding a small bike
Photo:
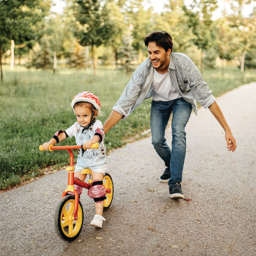
[[[86,151],[81,149],[78,152],[78,159],[75,169],[75,178],[84,181],[86,174],[81,171],[85,168],[92,170],[92,187],[90,188],[90,197],[94,198],[95,212],[94,218],[90,225],[94,227],[102,227],[105,220],[102,217],[104,208],[105,194],[99,191],[105,191],[103,188],[103,177],[106,171],[106,147],[104,145],[104,130],[101,121],[95,119],[101,111],[101,105],[98,97],[90,92],[80,92],[71,102],[76,120],[71,127],[65,131],[59,130],[50,139],[49,142],[43,143],[43,149],[48,150],[50,145],[55,145],[64,141],[67,137],[76,138],[77,145],[84,145]],[[99,143],[97,150],[90,149],[92,143]],[[83,187],[75,185],[75,189],[80,195]],[[69,192],[72,194],[73,192]],[[97,194],[97,198],[94,197]]]

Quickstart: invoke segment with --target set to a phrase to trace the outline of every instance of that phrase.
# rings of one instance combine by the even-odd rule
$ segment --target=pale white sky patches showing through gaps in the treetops
[[[164,5],[169,2],[168,0],[149,0],[149,1],[151,2],[150,6],[153,6],[154,10],[159,13],[161,13],[164,10]],[[52,11],[56,13],[61,13],[65,6],[65,2],[62,0],[53,0],[53,2],[55,2],[55,6],[52,7]],[[187,5],[189,5],[191,2],[192,0],[185,0],[185,4]],[[218,0],[218,5],[219,5],[218,10],[216,10],[215,13],[213,13],[213,19],[217,19],[218,17],[220,17],[221,11],[224,8],[226,8],[227,13],[230,12],[229,4],[226,1]],[[147,6],[149,5],[145,4],[145,7]],[[256,7],[256,2],[245,6],[243,10],[243,15],[248,16],[252,12],[253,7]]]

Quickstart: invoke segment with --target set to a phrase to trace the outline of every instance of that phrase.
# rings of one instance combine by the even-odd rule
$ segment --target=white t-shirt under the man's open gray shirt
[[[171,84],[169,72],[158,73],[154,69],[152,88],[154,101],[173,101],[181,97]]]

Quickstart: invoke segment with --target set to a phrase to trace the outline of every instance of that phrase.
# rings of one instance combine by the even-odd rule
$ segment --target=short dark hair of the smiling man
[[[168,49],[173,50],[173,39],[166,31],[155,31],[150,33],[144,38],[145,46],[148,47],[148,43],[155,42],[159,47],[164,48],[167,52]]]

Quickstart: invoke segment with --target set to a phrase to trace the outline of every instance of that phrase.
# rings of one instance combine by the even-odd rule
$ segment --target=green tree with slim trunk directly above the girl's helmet
[[[94,47],[107,44],[113,35],[113,24],[109,18],[107,1],[78,0],[74,2],[73,9],[76,20],[79,22],[76,36],[80,45],[90,45],[92,49],[92,63],[96,75],[96,59]]]

